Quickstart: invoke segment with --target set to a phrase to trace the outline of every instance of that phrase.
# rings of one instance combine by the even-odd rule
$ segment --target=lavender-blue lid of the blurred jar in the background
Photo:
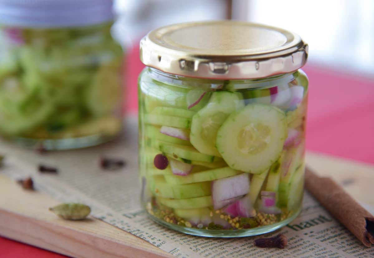
[[[66,28],[100,24],[113,19],[113,0],[0,0],[2,25]]]

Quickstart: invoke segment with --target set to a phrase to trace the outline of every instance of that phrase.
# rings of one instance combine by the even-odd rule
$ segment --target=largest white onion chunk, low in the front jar
[[[249,192],[249,175],[246,173],[214,180],[212,183],[212,198],[214,209],[229,205],[234,198]]]

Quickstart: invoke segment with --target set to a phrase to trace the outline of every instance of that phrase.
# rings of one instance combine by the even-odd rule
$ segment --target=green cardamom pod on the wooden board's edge
[[[83,220],[91,212],[91,208],[82,203],[62,203],[49,210],[65,220]]]

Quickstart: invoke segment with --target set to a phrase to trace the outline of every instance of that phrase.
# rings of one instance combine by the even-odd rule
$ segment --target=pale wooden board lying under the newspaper
[[[331,176],[357,201],[374,207],[374,166],[307,153],[307,165]],[[59,202],[39,192],[23,190],[0,173],[0,235],[72,257],[172,257],[150,243],[103,221],[59,219],[48,207]]]

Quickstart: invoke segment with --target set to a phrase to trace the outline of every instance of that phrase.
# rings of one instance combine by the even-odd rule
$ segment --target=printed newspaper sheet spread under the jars
[[[6,155],[0,173],[12,178],[31,175],[37,190],[61,202],[83,202],[91,206],[94,217],[138,236],[176,257],[373,257],[355,236],[329,215],[307,192],[301,214],[290,224],[259,237],[285,234],[285,249],[257,248],[259,237],[208,238],[166,229],[148,218],[140,206],[137,171],[137,120],[126,120],[125,133],[116,142],[81,150],[48,152],[40,155],[7,142],[0,142]],[[118,171],[103,171],[97,162],[107,155],[126,161]],[[58,174],[40,174],[37,165],[58,167]],[[5,198],[5,197],[0,197]]]

